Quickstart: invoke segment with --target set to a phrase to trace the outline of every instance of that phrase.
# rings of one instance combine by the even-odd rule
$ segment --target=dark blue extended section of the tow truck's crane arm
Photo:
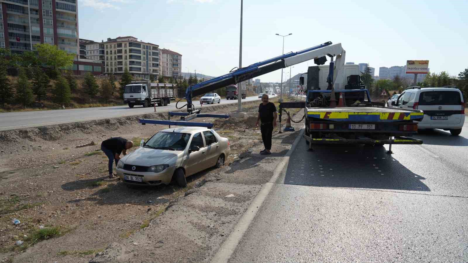
[[[306,53],[309,51],[313,51],[328,45],[331,45],[331,42],[326,42],[311,48],[307,48],[305,50],[297,51],[297,52],[289,52],[287,54],[275,57],[275,58],[270,58],[258,63],[254,63],[250,66],[243,67],[240,69],[237,69],[233,72],[224,74],[222,76],[216,77],[211,80],[205,80],[200,83],[190,85],[187,90],[185,91],[185,99],[187,100],[187,107],[188,111],[191,111],[191,103],[192,103],[192,97],[198,96],[205,94],[207,92],[212,92],[218,88],[226,87],[228,85],[233,85],[236,83],[239,83],[241,81],[249,80],[251,78],[273,72],[275,70],[278,70],[280,68],[285,68],[285,58],[291,58],[297,55],[300,55],[302,53]]]

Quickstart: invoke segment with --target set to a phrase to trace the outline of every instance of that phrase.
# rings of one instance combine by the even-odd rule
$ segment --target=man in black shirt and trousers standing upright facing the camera
[[[262,103],[258,106],[258,116],[255,124],[258,126],[258,121],[262,121],[260,131],[262,132],[263,145],[265,146],[265,149],[260,152],[262,155],[271,154],[271,135],[273,133],[273,127],[276,127],[277,117],[275,104],[268,102],[268,95],[263,94]]]

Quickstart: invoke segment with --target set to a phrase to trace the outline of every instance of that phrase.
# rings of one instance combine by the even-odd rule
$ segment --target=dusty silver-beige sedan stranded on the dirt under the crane
[[[210,167],[221,167],[229,156],[229,140],[203,127],[177,127],[159,131],[117,164],[126,184],[186,186],[185,177]]]

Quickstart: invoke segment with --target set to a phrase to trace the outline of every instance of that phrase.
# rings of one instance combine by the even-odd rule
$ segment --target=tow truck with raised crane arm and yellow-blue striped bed
[[[285,109],[303,108],[305,118],[304,139],[309,143],[309,151],[313,151],[312,144],[422,144],[422,140],[409,138],[417,132],[417,122],[422,120],[421,110],[398,109],[385,107],[385,102],[373,102],[369,91],[361,85],[360,75],[347,74],[344,70],[346,51],[341,43],[326,42],[314,47],[289,52],[270,58],[250,66],[238,68],[225,75],[205,80],[191,85],[185,92],[187,101],[182,109],[187,112],[169,112],[168,120],[140,119],[141,124],[165,124],[202,126],[212,128],[210,123],[189,122],[197,117],[221,117],[229,115],[201,114],[192,104],[192,98],[218,88],[234,85],[241,81],[270,73],[278,69],[293,66],[308,60],[314,60],[316,65],[323,65],[330,58],[328,74],[326,74],[326,88],[323,85],[313,85],[314,78],[320,79],[317,68],[308,68],[307,96],[305,102],[280,102],[279,126],[281,132],[281,116]],[[323,74],[322,74],[323,75]],[[322,77],[324,79],[324,77]],[[310,81],[309,81],[310,80]],[[300,85],[304,79],[300,78]],[[319,81],[320,82],[320,81]],[[322,86],[322,87],[321,87]],[[336,98],[340,97],[337,101]],[[349,106],[346,106],[346,105]],[[170,117],[181,116],[180,121],[170,120]]]

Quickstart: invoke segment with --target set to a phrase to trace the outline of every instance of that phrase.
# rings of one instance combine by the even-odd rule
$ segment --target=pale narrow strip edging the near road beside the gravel
[[[273,176],[271,176],[270,181],[263,185],[262,190],[260,190],[260,192],[254,198],[252,204],[249,205],[249,208],[242,215],[241,219],[234,227],[231,234],[229,234],[227,239],[221,244],[221,247],[218,249],[218,252],[216,252],[216,254],[211,260],[212,263],[227,262],[232,256],[235,248],[237,247],[245,232],[249,228],[250,223],[255,218],[257,212],[260,210],[263,201],[266,199],[279,175],[283,172],[286,164],[289,162],[289,158],[291,157],[292,152],[294,151],[296,146],[299,144],[299,141],[302,138],[302,134],[304,134],[304,129],[300,130],[298,137],[292,143],[291,149],[289,149],[289,151],[285,154],[285,156],[282,158],[282,160],[274,170]]]

